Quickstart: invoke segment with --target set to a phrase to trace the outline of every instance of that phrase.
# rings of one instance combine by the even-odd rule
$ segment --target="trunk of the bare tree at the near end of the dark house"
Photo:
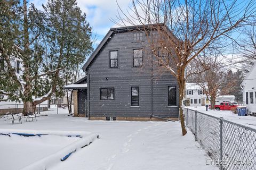
[[[180,116],[180,124],[181,124],[181,131],[182,135],[187,134],[186,126],[185,126],[185,118],[183,115],[183,108],[182,108],[182,100],[184,97],[183,91],[185,89],[185,68],[179,68],[178,70],[178,83],[179,83],[179,116]]]

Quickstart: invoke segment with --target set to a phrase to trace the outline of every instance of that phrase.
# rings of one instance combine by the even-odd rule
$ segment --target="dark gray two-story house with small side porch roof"
[[[87,76],[65,87],[74,89],[75,115],[90,120],[177,120],[177,80],[153,62],[140,27],[111,28],[83,66]]]

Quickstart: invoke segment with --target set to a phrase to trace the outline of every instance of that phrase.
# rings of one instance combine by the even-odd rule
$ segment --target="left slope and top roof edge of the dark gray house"
[[[86,61],[86,63],[83,66],[83,70],[85,71],[87,69],[87,67],[91,64],[91,62],[93,61],[93,59],[95,58],[95,56],[97,56],[97,54],[100,52],[101,48],[107,43],[107,40],[109,38],[111,38],[111,35],[114,32],[126,32],[126,31],[134,31],[134,30],[143,30],[145,29],[145,27],[148,27],[150,29],[150,27],[154,27],[154,25],[160,25],[162,27],[165,26],[165,24],[163,23],[159,23],[159,24],[148,24],[148,25],[134,25],[134,26],[129,26],[129,27],[119,27],[119,28],[111,28],[107,35],[102,39],[102,41],[100,42],[100,44],[98,45],[98,47],[94,50],[94,52],[92,53],[92,55],[89,57],[89,59]],[[167,28],[167,27],[166,27]],[[169,29],[168,29],[169,30]],[[170,31],[170,30],[169,30]]]

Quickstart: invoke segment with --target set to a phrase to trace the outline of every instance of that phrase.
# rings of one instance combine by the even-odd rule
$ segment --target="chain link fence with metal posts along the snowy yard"
[[[186,125],[221,170],[256,170],[256,130],[185,109]]]

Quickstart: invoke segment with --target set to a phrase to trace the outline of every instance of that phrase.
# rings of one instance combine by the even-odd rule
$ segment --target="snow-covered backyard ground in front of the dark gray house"
[[[38,117],[37,122],[26,122],[23,118],[22,124],[14,125],[11,124],[9,116],[5,116],[0,118],[0,129],[89,131],[99,134],[100,138],[91,145],[76,151],[67,160],[49,169],[218,169],[217,166],[206,165],[205,160],[208,157],[194,141],[194,135],[190,131],[182,137],[179,122],[89,121],[83,117],[67,116],[67,112],[59,109],[57,115],[51,109],[42,112],[41,115],[48,116]],[[9,151],[7,148],[12,147],[9,141],[11,138],[1,137],[1,169],[12,169],[12,163],[21,164],[30,160],[33,162],[34,158],[30,157],[40,159],[38,155],[46,156],[72,142],[69,141],[71,139],[54,139],[55,142],[49,143],[51,139],[44,142],[47,139],[42,138],[42,141],[38,141],[38,145],[43,145],[42,149],[39,147],[30,155],[29,146],[26,145],[26,140],[30,137],[17,138],[20,147]],[[37,140],[38,138],[31,137],[31,142],[37,143]],[[13,145],[17,146],[17,143]]]

